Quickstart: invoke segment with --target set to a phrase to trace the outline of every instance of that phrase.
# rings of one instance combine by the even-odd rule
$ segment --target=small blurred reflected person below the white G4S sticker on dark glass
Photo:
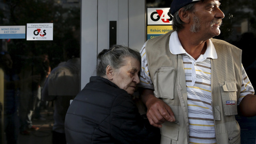
[[[20,89],[20,133],[23,135],[30,134],[30,131],[36,131],[39,127],[33,125],[32,116],[35,113],[36,104],[41,100],[41,85],[46,78],[46,71],[42,67],[42,62],[34,53],[29,51],[26,53],[25,63],[21,68],[21,79],[27,79],[31,76],[36,81],[23,83]]]

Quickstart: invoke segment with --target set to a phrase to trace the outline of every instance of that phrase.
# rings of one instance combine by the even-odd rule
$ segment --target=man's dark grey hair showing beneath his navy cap
[[[181,11],[183,11],[183,12],[186,12],[186,11],[192,12],[192,11],[194,11],[194,5],[195,5],[195,3],[190,3],[188,5],[185,5],[181,8]],[[179,30],[182,30],[184,28],[184,26],[183,26],[184,22],[179,17],[179,11],[174,13],[172,23],[173,23],[173,30],[175,30],[175,31],[179,31]]]

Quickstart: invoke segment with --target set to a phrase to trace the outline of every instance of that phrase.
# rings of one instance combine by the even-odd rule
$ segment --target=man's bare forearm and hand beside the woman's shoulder
[[[147,117],[151,125],[162,127],[166,121],[174,122],[172,109],[161,99],[154,96],[154,91],[150,89],[141,89],[141,99],[147,107]]]

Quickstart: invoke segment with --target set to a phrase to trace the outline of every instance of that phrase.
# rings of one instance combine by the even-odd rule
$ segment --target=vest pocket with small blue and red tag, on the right
[[[237,87],[235,81],[221,83],[221,98],[226,116],[237,115]]]

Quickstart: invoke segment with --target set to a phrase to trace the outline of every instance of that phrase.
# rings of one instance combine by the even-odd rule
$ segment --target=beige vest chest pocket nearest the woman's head
[[[154,74],[154,94],[157,98],[173,99],[175,69],[161,67]]]

